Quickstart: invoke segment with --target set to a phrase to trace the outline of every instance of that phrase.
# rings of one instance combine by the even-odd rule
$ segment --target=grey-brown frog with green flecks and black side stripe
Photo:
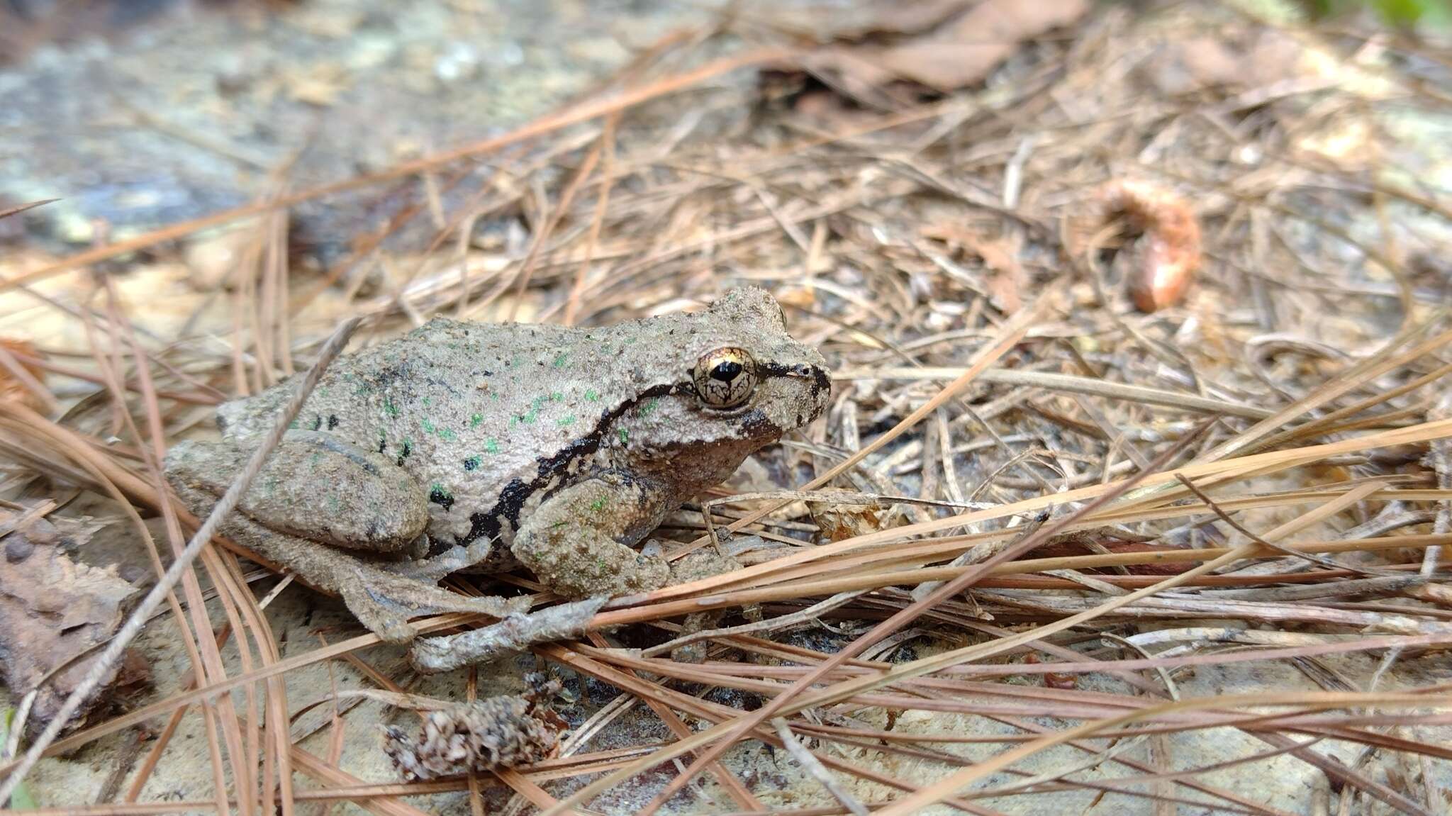
[[[190,511],[212,510],[295,386],[224,402],[221,438],[170,447]],[[386,642],[411,617],[527,604],[439,587],[460,571],[523,565],[562,598],[648,592],[671,581],[646,540],[665,515],[820,417],[831,388],[759,287],[605,327],[436,317],[340,356],[219,531]]]

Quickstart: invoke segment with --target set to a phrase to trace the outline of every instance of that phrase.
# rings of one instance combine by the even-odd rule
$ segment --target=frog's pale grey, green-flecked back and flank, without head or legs
[[[629,372],[620,376],[635,341],[614,327],[436,318],[337,360],[295,425],[393,459],[428,491],[436,537],[494,534],[470,515],[497,508],[511,485],[530,485],[544,462],[594,450],[581,440],[635,393]],[[221,407],[224,433],[266,433],[292,389],[289,380]]]

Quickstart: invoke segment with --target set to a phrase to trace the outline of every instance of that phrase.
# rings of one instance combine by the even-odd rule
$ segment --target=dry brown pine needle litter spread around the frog
[[[189,690],[49,745],[55,755],[166,723],[125,793],[65,812],[260,815],[350,800],[402,815],[423,812],[405,796],[468,790],[479,813],[484,791],[501,784],[517,794],[510,812],[590,812],[594,796],[671,759],[681,771],[652,788],[642,816],[696,790],[697,774],[725,793],[713,812],[772,810],[720,761],[743,740],[784,745],[823,784],[826,804],[772,810],[803,816],[934,803],[1000,813],[1076,788],[1147,799],[1156,813],[1189,801],[1284,813],[1214,781],[1279,755],[1324,774],[1342,813],[1443,812],[1432,765],[1452,751],[1432,735],[1452,725],[1449,688],[1384,680],[1398,661],[1445,659],[1452,643],[1442,556],[1452,543],[1452,324],[1433,232],[1449,227],[1452,203],[1416,183],[1432,158],[1388,125],[1394,110],[1446,115],[1446,99],[1406,73],[1419,60],[1445,68],[1446,52],[1376,35],[1384,51],[1371,60],[1363,33],[1286,29],[1278,42],[1301,60],[1279,77],[1170,93],[1147,80],[1157,49],[1207,30],[1253,42],[1276,29],[1224,9],[1133,19],[1105,7],[1022,49],[986,89],[874,110],[816,87],[745,81],[800,58],[799,44],[761,17],[735,25],[762,48],[706,60],[720,32],[674,35],[611,87],[504,136],[317,189],[290,189],[280,168],[251,206],[36,263],[3,285],[102,270],[84,279],[84,298],[48,306],[83,321],[90,357],[4,353],[7,370],[91,392],[77,402],[76,388],[62,399],[25,383],[42,408],[57,407],[46,414],[20,396],[0,402],[6,485],[109,497],[157,575],[197,526],[158,489],[166,441],[202,408],[305,369],[341,317],[362,318],[359,346],[434,314],[594,324],[755,282],[838,375],[829,417],[765,456],[775,473],[810,478],[775,485],[794,489],[781,497],[710,502],[713,529],[671,550],[725,530],[759,533],[765,549],[743,553],[743,569],[617,598],[585,637],[536,648],[623,691],[576,729],[572,754],[405,786],[344,772],[341,743],[328,756],[299,748],[289,672],[351,661],[379,688],[405,682],[366,662],[370,635],[283,658],[264,610],[272,595],[260,601],[248,584],[247,553],[216,542],[166,598],[190,655]],[[1176,190],[1195,211],[1204,261],[1179,305],[1143,314],[1130,303],[1134,250],[1106,251],[1125,238],[1098,203],[1105,183],[1122,180]],[[287,208],[389,186],[408,203],[359,235],[348,258],[325,273],[290,269]],[[466,205],[450,209],[440,190],[463,192]],[[382,248],[391,231],[428,218],[430,245]],[[475,232],[508,221],[524,227],[518,245]],[[248,232],[228,286],[176,335],[138,331],[145,321],[126,312],[107,264],[234,222]],[[865,495],[870,513],[823,488]],[[35,507],[29,495],[7,504],[12,521]],[[55,486],[51,498],[73,495]],[[804,497],[858,527],[807,542],[822,518]],[[142,514],[160,514],[166,542],[152,542]],[[513,582],[555,603],[526,578]],[[704,664],[649,648],[675,637],[687,613],[758,604],[770,623],[727,619]],[[833,653],[772,639],[817,619],[857,627],[854,637]],[[420,630],[484,623],[443,616]],[[947,646],[884,658],[910,639]],[[1379,668],[1340,678],[1323,662],[1352,653]],[[1196,668],[1273,662],[1323,691],[1180,694]],[[1088,677],[1119,691],[1080,687]],[[745,711],[691,693],[701,687],[765,703]],[[591,751],[597,725],[636,700],[672,739]],[[1008,732],[894,730],[909,711]],[[887,727],[873,725],[878,714]],[[139,801],[184,716],[206,725],[213,799]],[[1214,767],[1176,762],[1167,736],[1210,729],[1266,749]],[[1363,762],[1327,759],[1317,740],[1363,746]],[[976,743],[993,746],[982,761],[948,751]],[[1047,774],[1013,767],[1059,746],[1079,758]],[[903,778],[864,749],[937,770]],[[312,786],[295,787],[295,775]],[[552,788],[559,780],[574,784]]]

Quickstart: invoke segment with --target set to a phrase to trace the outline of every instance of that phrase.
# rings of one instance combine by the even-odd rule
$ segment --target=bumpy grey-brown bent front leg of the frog
[[[514,556],[542,584],[575,598],[664,587],[669,566],[636,552],[671,510],[665,491],[607,470],[540,502],[514,534]]]

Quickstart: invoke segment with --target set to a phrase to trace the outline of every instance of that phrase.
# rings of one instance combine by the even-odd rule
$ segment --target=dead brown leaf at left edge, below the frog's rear
[[[41,684],[26,722],[30,732],[45,727],[90,672],[99,656],[93,648],[110,639],[136,594],[115,568],[87,566],[67,555],[94,530],[73,520],[36,518],[0,539],[0,672],[17,695]],[[83,711],[94,707],[119,668],[112,666]]]

